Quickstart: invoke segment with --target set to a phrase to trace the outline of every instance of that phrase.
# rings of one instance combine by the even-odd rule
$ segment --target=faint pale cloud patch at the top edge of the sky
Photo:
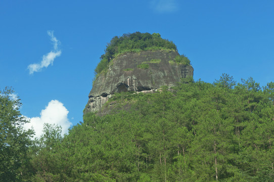
[[[157,13],[172,13],[178,10],[176,0],[152,0],[150,3]]]

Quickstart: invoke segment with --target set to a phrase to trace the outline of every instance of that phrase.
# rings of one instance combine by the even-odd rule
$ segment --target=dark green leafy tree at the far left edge
[[[26,174],[21,168],[28,163],[27,150],[32,130],[24,130],[28,122],[19,112],[20,99],[12,98],[8,87],[0,90],[0,181],[21,181]],[[22,172],[23,171],[23,172]]]

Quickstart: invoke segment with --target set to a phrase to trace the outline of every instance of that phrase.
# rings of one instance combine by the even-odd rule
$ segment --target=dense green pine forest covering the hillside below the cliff
[[[25,181],[274,181],[274,83],[184,79],[121,93],[115,113],[84,115],[64,138],[45,126]],[[123,110],[124,105],[131,109]],[[119,110],[120,109],[120,110]]]

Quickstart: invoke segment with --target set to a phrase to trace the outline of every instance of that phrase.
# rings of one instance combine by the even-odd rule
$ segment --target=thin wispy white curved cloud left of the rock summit
[[[53,65],[55,58],[60,56],[62,53],[61,50],[59,50],[58,48],[60,41],[57,40],[57,38],[54,36],[53,31],[48,31],[48,35],[51,37],[51,41],[53,43],[53,51],[51,51],[47,55],[43,55],[42,61],[40,63],[28,65],[29,74],[41,71],[42,68],[47,68],[50,64]]]

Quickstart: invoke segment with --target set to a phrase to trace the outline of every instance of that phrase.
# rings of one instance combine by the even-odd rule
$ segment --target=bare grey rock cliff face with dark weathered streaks
[[[125,53],[112,60],[109,69],[94,81],[84,114],[99,111],[114,93],[154,92],[193,76],[193,67],[172,62],[176,51]]]

